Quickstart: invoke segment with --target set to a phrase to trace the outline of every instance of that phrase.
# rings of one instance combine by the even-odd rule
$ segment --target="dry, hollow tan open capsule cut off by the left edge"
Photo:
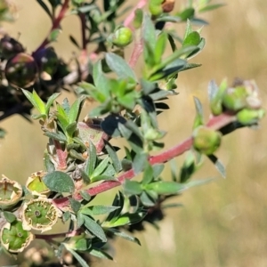
[[[22,197],[22,188],[19,182],[9,180],[3,175],[0,181],[0,207],[9,209],[15,206]]]

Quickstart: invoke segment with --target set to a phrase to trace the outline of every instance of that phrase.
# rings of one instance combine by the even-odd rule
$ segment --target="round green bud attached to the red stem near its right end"
[[[221,144],[222,134],[204,126],[199,126],[193,132],[193,146],[195,150],[211,155]]]

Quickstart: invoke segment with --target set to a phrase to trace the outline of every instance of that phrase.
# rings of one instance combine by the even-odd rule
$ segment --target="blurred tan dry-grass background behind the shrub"
[[[176,2],[177,10],[185,3]],[[192,97],[198,96],[205,105],[206,88],[211,79],[218,84],[224,77],[228,77],[230,84],[234,77],[255,79],[266,108],[267,1],[221,2],[226,4],[223,8],[201,14],[210,25],[202,30],[206,48],[193,62],[203,66],[181,74],[180,94],[168,101],[171,109],[159,116],[161,129],[168,131],[166,148],[191,133]],[[14,3],[20,16],[4,28],[13,37],[20,34],[20,42],[30,53],[42,42],[51,25],[36,1]],[[69,32],[79,38],[78,27],[76,18],[69,16],[62,23],[59,42],[53,45],[65,59],[77,52],[69,42]],[[179,28],[182,35],[184,25]],[[64,93],[66,96],[72,97],[70,93]],[[206,109],[206,118],[208,115]],[[25,182],[29,174],[43,169],[46,139],[36,121],[29,124],[19,116],[4,120],[1,127],[8,134],[0,143],[0,172]],[[246,128],[225,136],[217,153],[227,168],[225,180],[206,159],[193,179],[207,176],[219,179],[174,199],[182,207],[166,210],[166,218],[158,223],[160,231],[147,225],[147,231],[136,234],[142,247],[117,239],[113,243],[115,262],[95,260],[93,266],[267,266],[266,130],[265,117],[258,130]],[[181,164],[182,158],[177,161],[178,166]],[[168,169],[165,177],[169,179]],[[101,198],[108,203],[111,196],[108,193]]]

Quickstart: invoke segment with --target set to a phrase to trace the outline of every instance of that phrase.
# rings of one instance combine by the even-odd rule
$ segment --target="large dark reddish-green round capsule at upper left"
[[[32,56],[18,53],[7,61],[4,73],[11,85],[26,88],[35,83],[37,71],[36,61]]]

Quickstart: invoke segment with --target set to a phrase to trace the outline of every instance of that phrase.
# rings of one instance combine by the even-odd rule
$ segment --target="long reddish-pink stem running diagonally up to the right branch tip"
[[[207,127],[214,129],[214,130],[220,130],[223,128],[223,126],[229,125],[232,122],[236,120],[236,117],[231,114],[222,114],[220,116],[211,117],[208,123],[206,124]],[[171,160],[172,158],[175,158],[177,156],[182,155],[187,150],[190,150],[190,147],[192,145],[192,137],[189,137],[185,141],[175,145],[173,148],[166,150],[157,156],[152,156],[149,158],[151,165],[161,164],[165,163],[166,161]],[[106,181],[101,182],[100,184],[93,186],[92,188],[88,189],[87,192],[91,196],[98,195],[104,191],[110,190],[112,188],[115,188],[119,185],[121,185],[126,179],[132,179],[134,178],[136,174],[134,174],[134,169],[130,169],[126,171],[124,174],[120,174],[117,177],[117,181]],[[77,200],[82,199],[81,195],[77,194],[76,196],[73,196],[73,198],[76,198]],[[62,208],[64,206],[69,205],[69,199],[68,198],[59,198],[54,199],[53,202],[56,206],[59,208]]]

